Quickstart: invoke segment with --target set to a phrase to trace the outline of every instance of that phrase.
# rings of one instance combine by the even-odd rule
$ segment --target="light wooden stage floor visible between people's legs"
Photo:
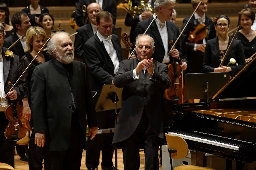
[[[82,155],[82,161],[81,161],[81,170],[87,170],[86,166],[85,166],[85,150],[83,150],[83,155]],[[122,154],[122,150],[118,149],[117,152],[117,167],[119,170],[123,170],[123,154]],[[160,162],[160,159],[159,159]],[[100,163],[101,163],[101,154],[100,154]],[[115,165],[115,152],[113,155],[113,163]],[[144,170],[144,164],[145,164],[145,157],[144,157],[144,152],[140,152],[140,170]],[[161,169],[162,166],[159,164],[159,169]],[[101,170],[101,165],[98,166],[98,169]],[[22,160],[20,160],[20,156],[16,155],[15,156],[15,170],[28,170],[28,162],[24,162]]]

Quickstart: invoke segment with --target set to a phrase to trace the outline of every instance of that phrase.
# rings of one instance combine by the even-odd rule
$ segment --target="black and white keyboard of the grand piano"
[[[185,132],[168,132],[168,134],[180,136],[183,139],[188,139],[191,141],[201,142],[204,144],[210,144],[210,145],[215,145],[215,146],[219,146],[219,147],[224,147],[224,148],[232,149],[232,150],[239,150],[239,147],[241,147],[243,145],[242,143],[247,143],[247,142],[239,141],[239,140],[235,139],[236,141],[239,141],[238,143],[240,143],[240,144],[236,144],[234,142],[228,142],[228,140],[227,141],[216,140],[216,138],[211,139],[211,137],[201,136],[201,135],[197,135],[197,134],[190,134],[190,133],[185,133]],[[229,138],[226,138],[226,139],[229,139]],[[230,141],[231,140],[234,141],[234,139],[230,139]],[[250,143],[250,142],[248,142],[248,143]]]

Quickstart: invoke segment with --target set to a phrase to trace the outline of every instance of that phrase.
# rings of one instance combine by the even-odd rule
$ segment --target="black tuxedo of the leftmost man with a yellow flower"
[[[22,70],[20,67],[19,57],[14,55],[14,57],[5,57],[5,51],[8,49],[2,47],[2,62],[3,62],[3,82],[5,94],[9,92],[8,82],[14,83],[18,80],[20,75],[22,75]],[[21,78],[18,85],[14,88],[17,91],[17,100],[22,100],[23,96],[27,93],[27,83],[24,78]],[[10,101],[9,101],[10,103]],[[7,126],[8,120],[5,118],[3,111],[0,112],[0,162],[7,163],[14,168],[14,149],[15,143],[5,139],[4,132],[5,126]]]

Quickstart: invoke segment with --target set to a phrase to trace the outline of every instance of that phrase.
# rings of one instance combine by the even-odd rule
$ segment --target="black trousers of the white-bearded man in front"
[[[65,151],[49,151],[51,170],[80,170],[85,136],[78,121],[72,115],[70,145]]]

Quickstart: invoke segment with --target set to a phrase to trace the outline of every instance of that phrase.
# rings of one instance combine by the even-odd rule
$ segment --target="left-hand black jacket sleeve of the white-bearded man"
[[[45,77],[42,71],[35,67],[32,74],[31,89],[31,113],[33,118],[34,132],[47,130],[47,98]]]

